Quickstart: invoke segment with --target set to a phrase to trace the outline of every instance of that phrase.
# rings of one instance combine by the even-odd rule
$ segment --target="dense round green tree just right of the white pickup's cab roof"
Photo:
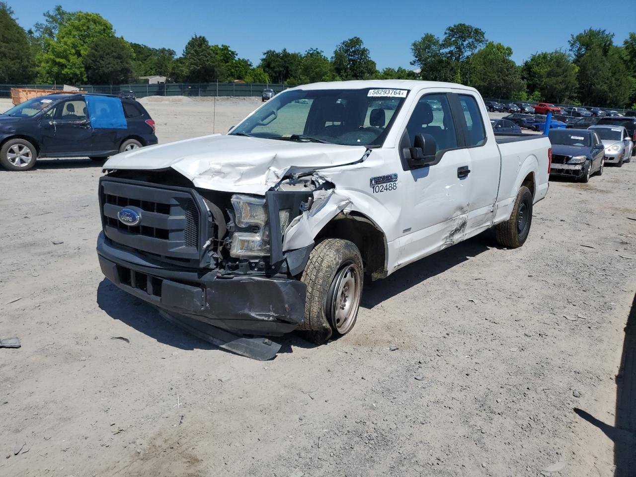
[[[472,83],[491,98],[512,98],[525,90],[520,68],[510,59],[512,48],[489,41],[473,56]]]

